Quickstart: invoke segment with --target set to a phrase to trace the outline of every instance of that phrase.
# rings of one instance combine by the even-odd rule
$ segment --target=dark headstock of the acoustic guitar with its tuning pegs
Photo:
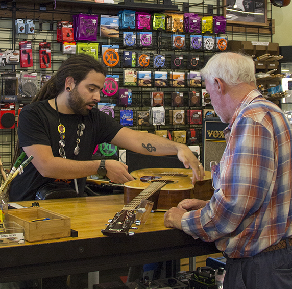
[[[105,236],[121,236],[121,235],[132,235],[132,232],[129,232],[132,228],[132,224],[138,222],[136,221],[136,214],[133,210],[121,210],[116,213],[114,218],[110,220],[108,226],[102,230],[102,233]],[[136,225],[138,225],[136,223]]]

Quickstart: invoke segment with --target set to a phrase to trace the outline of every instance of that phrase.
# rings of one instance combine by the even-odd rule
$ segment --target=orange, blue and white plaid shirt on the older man
[[[183,215],[182,228],[215,241],[230,258],[250,257],[292,235],[292,128],[253,90],[224,133],[221,188],[204,208]]]

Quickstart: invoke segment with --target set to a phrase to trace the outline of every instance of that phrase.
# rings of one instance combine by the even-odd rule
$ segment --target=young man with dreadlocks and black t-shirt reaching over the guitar
[[[91,56],[72,56],[21,110],[20,152],[34,159],[13,180],[10,201],[33,200],[42,185],[56,180],[66,180],[82,196],[86,177],[96,174],[101,165],[100,160],[91,159],[93,151],[104,142],[142,154],[177,154],[186,168],[192,168],[193,182],[202,180],[204,168],[187,146],[123,127],[94,108],[105,76],[105,67]],[[106,176],[115,183],[133,180],[121,162],[106,160],[105,168]]]

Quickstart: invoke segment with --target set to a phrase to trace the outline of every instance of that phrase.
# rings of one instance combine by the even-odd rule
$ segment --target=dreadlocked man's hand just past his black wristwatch
[[[105,162],[105,166],[107,169],[106,176],[116,184],[124,184],[134,180],[128,172],[128,165],[122,162],[108,159]]]

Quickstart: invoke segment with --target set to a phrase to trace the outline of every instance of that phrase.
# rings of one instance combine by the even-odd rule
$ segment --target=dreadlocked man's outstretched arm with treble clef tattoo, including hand
[[[139,132],[128,128],[122,128],[111,143],[145,155],[177,155],[185,168],[193,170],[193,183],[196,182],[196,179],[203,180],[204,168],[185,144],[171,141],[152,133]]]

